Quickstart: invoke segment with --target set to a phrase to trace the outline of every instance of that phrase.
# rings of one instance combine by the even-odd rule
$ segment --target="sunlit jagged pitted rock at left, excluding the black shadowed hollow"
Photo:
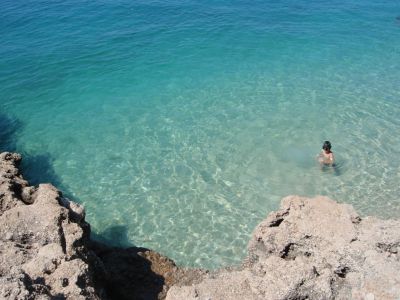
[[[0,155],[0,298],[100,299],[83,208],[51,185],[29,186],[20,160]]]

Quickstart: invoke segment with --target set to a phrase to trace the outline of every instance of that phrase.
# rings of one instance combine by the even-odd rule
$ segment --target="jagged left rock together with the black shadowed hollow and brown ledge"
[[[144,248],[92,242],[85,211],[50,184],[28,185],[0,154],[0,299],[160,299],[199,270]]]

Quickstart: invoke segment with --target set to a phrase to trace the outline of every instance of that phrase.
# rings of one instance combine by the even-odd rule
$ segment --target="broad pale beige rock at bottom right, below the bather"
[[[290,196],[255,229],[239,270],[175,285],[179,299],[400,299],[400,222]]]

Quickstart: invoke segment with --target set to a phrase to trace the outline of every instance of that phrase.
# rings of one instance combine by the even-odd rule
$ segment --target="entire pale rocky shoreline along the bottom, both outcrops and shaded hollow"
[[[184,269],[145,248],[90,240],[84,209],[30,186],[0,154],[0,299],[399,299],[400,221],[290,196],[239,268]]]

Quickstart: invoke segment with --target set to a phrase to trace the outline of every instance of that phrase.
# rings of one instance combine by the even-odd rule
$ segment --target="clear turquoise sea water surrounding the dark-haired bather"
[[[0,150],[96,238],[239,263],[289,194],[400,217],[400,2],[0,3]],[[315,155],[333,144],[338,167]]]

